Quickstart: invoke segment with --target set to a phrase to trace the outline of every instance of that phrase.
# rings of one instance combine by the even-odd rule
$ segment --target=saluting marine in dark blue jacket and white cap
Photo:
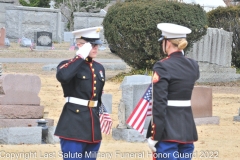
[[[79,50],[57,67],[66,103],[55,135],[59,136],[64,160],[95,160],[102,140],[99,106],[105,84],[104,67],[93,60],[102,44],[102,27],[74,31]]]

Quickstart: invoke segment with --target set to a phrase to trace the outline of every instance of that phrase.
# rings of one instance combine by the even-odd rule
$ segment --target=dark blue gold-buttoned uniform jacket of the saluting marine
[[[104,67],[91,58],[76,56],[57,67],[57,80],[64,97],[98,101],[97,107],[65,103],[55,135],[69,140],[97,143],[101,141],[99,106],[105,83]]]

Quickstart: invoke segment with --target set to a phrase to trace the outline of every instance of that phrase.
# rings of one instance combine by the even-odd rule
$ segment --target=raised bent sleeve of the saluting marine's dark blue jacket
[[[79,67],[84,60],[80,56],[75,56],[73,59],[62,61],[57,66],[56,78],[61,83],[68,83],[78,72]]]

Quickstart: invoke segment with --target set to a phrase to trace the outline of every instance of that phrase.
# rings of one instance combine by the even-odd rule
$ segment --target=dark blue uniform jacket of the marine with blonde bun
[[[191,143],[198,135],[191,106],[168,106],[169,100],[191,100],[192,90],[199,78],[196,61],[182,52],[170,54],[153,67],[159,79],[153,83],[153,121],[147,138],[157,141]]]

